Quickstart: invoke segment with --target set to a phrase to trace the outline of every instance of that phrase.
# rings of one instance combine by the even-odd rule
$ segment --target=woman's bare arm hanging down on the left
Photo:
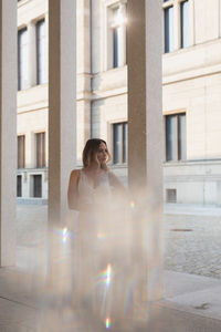
[[[67,203],[69,208],[72,210],[78,210],[78,179],[80,170],[74,169],[70,175],[69,190],[67,190]]]

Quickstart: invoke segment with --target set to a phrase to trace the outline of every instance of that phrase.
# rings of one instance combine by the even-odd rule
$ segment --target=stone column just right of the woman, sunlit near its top
[[[162,295],[161,1],[128,0],[128,180],[139,300]]]

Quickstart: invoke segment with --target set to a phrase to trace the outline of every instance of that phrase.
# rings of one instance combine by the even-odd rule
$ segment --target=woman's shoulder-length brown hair
[[[101,138],[91,138],[86,142],[86,145],[83,149],[83,157],[82,157],[84,168],[88,168],[90,165],[92,164],[92,162],[96,162],[97,165],[99,165],[99,162],[97,159],[97,153],[98,153],[101,143],[104,143],[107,148],[106,142]],[[108,159],[106,163],[108,163],[112,159],[108,148],[107,148],[107,156],[108,156]],[[101,167],[106,168],[104,165],[102,165]]]

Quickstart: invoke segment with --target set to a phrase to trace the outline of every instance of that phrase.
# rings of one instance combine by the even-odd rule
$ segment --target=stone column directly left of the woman
[[[75,166],[76,1],[49,0],[49,222],[67,214],[67,186]]]

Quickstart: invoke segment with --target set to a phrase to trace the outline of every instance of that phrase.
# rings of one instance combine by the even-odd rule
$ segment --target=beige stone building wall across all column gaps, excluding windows
[[[91,134],[93,137],[106,139],[113,154],[112,126],[116,122],[127,120],[127,66],[108,69],[110,50],[107,10],[116,2],[93,0],[90,20],[90,0],[77,0],[78,164],[83,146]],[[46,0],[18,2],[18,28],[30,27],[43,17],[48,20]],[[194,160],[194,165],[188,160],[185,164],[167,163],[165,193],[167,188],[177,188],[179,203],[218,204],[221,197],[219,196],[221,172],[218,167],[219,160],[212,159],[221,158],[220,1],[190,0],[190,27],[191,45],[182,50],[178,48],[177,51],[162,55],[162,105],[164,114],[186,111],[187,158]],[[90,35],[92,35],[91,48],[88,48]],[[177,43],[179,44],[179,41]],[[35,86],[33,52],[30,53],[30,59],[32,59],[30,89],[18,93],[18,134],[27,135],[27,167],[32,169],[30,172],[35,172],[33,133],[48,132],[48,84]],[[204,159],[209,160],[206,166],[202,162]],[[125,179],[125,166],[115,167],[115,172]],[[198,178],[199,172],[203,175]],[[171,176],[175,176],[176,180]],[[45,178],[44,197],[46,184]],[[28,196],[30,189],[29,185],[25,186],[24,193]],[[206,196],[208,198],[203,198]]]

